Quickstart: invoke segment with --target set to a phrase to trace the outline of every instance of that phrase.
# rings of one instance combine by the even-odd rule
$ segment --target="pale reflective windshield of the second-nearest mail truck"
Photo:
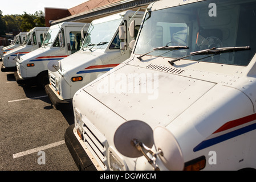
[[[121,19],[115,19],[108,22],[91,23],[87,32],[86,39],[84,39],[82,49],[84,48],[99,48],[105,49],[111,41],[115,32],[121,23]]]

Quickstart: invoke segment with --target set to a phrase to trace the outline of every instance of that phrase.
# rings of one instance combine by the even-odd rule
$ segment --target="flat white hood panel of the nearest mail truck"
[[[106,73],[83,90],[126,121],[139,119],[153,128],[168,125],[216,85],[180,72],[156,72],[133,65],[123,68]]]

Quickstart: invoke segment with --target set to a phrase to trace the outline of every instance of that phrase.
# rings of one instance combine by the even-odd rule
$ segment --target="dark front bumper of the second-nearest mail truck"
[[[70,110],[72,109],[72,100],[60,100],[58,96],[54,93],[54,91],[50,88],[50,85],[47,84],[44,89],[46,90],[46,94],[50,98],[52,105],[57,110]]]

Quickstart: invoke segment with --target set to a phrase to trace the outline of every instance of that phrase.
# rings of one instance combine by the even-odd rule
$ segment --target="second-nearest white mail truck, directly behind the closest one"
[[[141,11],[124,11],[93,20],[80,51],[48,63],[50,84],[45,89],[56,109],[72,109],[76,91],[129,58],[127,45],[135,38],[127,33],[126,24],[135,20],[132,29],[139,30],[143,15]]]

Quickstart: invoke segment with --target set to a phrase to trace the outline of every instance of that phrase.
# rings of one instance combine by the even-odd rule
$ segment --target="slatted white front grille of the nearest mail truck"
[[[107,169],[107,139],[87,118],[82,117],[84,143],[91,151],[101,169]]]

